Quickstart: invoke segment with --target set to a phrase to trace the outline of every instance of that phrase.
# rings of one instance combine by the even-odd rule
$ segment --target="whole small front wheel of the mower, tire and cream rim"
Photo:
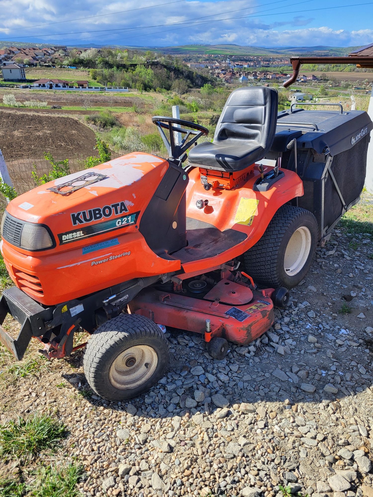
[[[162,378],[169,345],[150,319],[121,314],[97,328],[83,357],[88,383],[106,400],[128,400]]]

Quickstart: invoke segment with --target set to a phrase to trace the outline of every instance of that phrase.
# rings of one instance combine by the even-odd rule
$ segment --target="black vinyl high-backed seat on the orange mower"
[[[189,151],[188,164],[239,171],[263,159],[275,137],[278,93],[266,86],[238,88],[229,95],[213,142]]]

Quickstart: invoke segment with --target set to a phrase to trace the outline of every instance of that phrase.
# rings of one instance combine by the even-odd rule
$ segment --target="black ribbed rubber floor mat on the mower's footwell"
[[[207,259],[234,247],[247,239],[241,231],[220,231],[215,226],[187,217],[187,247],[174,252],[172,256],[183,262]]]

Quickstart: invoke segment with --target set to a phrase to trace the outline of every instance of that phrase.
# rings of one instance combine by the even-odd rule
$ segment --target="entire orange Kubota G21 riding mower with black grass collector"
[[[1,343],[18,360],[31,338],[49,359],[85,346],[93,391],[122,401],[165,374],[159,325],[203,334],[215,359],[255,340],[359,200],[373,124],[336,105],[278,113],[276,89],[238,88],[212,142],[156,116],[167,160],[131,153],[12,200],[1,253],[15,286],[0,323],[21,328],[14,339],[1,326]]]

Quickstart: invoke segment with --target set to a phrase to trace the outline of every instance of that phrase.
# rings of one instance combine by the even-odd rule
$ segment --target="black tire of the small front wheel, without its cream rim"
[[[157,366],[151,377],[138,387],[118,389],[110,382],[110,367],[121,352],[136,345],[152,347],[158,357]],[[83,356],[88,383],[108,401],[125,401],[148,391],[164,376],[168,363],[169,344],[164,333],[153,321],[137,314],[121,314],[98,327]]]

